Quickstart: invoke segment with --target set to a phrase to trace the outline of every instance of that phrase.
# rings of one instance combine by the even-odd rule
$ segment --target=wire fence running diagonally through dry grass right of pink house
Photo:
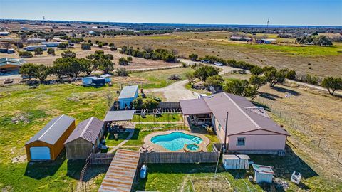
[[[294,128],[297,132],[304,134],[309,138],[309,142],[316,146],[318,149],[321,149],[323,152],[331,156],[331,158],[335,159],[339,164],[342,164],[342,153],[338,149],[331,148],[331,144],[328,143],[328,139],[326,137],[318,136],[315,134],[311,127],[304,126],[296,122],[294,118],[294,114],[290,112],[286,112],[281,110],[281,107],[276,106],[275,103],[269,102],[268,100],[264,100],[262,98],[257,98],[257,102],[261,103],[270,110],[276,117],[284,119],[285,122],[290,124],[292,128]]]

